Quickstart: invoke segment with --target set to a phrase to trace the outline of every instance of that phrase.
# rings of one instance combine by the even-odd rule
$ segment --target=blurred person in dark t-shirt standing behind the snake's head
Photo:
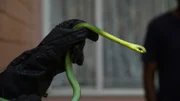
[[[180,101],[180,0],[148,25],[142,55],[146,101]],[[158,89],[155,72],[158,73]]]

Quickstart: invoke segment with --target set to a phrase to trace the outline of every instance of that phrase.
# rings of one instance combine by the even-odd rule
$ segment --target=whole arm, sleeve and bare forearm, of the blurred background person
[[[157,25],[152,21],[147,30],[144,47],[147,52],[142,55],[143,61],[143,82],[146,101],[157,101],[157,94],[154,84],[154,75],[157,69],[158,57],[158,30]]]

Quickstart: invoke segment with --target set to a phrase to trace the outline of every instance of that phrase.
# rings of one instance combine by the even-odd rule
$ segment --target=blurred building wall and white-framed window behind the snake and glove
[[[175,6],[175,0],[0,0],[0,71],[64,20],[82,19],[143,45],[148,22]],[[103,37],[87,40],[84,51],[84,65],[74,65],[82,101],[144,101],[141,54]],[[48,94],[44,101],[70,101],[65,73]]]

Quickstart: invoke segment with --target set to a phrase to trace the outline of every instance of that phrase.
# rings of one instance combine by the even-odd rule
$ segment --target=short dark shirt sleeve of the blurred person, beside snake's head
[[[154,22],[151,22],[147,27],[144,40],[144,47],[147,52],[142,55],[143,62],[154,62],[157,60],[157,41],[159,33],[156,26]]]

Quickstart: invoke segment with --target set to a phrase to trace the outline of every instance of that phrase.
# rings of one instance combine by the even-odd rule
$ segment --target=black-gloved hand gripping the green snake
[[[73,63],[82,65],[85,40],[97,41],[98,35],[85,28],[72,29],[81,22],[84,21],[73,19],[57,25],[37,47],[13,60],[0,74],[0,97],[11,99],[23,94],[42,97],[53,77],[65,71],[67,52]]]

